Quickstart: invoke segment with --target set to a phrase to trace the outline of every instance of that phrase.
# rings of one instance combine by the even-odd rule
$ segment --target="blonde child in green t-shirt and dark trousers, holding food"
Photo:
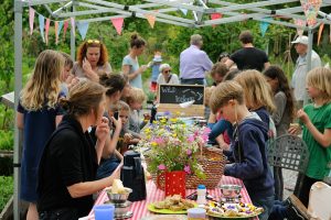
[[[331,162],[331,70],[314,68],[307,75],[307,90],[312,103],[299,110],[297,116],[302,125],[302,139],[309,148],[309,162],[299,190],[299,199],[307,207],[309,191],[316,182],[323,179]],[[295,134],[299,127],[291,127]]]

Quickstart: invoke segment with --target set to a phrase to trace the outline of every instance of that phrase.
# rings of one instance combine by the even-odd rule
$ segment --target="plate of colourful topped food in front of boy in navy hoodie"
[[[252,204],[220,204],[211,201],[205,206],[206,213],[217,219],[248,219],[264,212],[263,208]]]

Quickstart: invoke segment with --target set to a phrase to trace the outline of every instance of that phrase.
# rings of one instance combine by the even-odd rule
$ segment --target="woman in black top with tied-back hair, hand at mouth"
[[[60,101],[67,110],[49,139],[39,172],[38,210],[40,219],[78,219],[93,207],[93,194],[119,178],[118,167],[111,176],[95,180],[107,136],[105,88],[90,80],[73,86],[68,99]],[[94,145],[88,128],[97,125]]]

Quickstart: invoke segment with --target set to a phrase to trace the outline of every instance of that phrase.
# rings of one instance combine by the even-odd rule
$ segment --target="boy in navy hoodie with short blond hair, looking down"
[[[259,219],[266,220],[274,204],[274,178],[268,167],[266,142],[268,129],[244,101],[244,89],[236,81],[220,84],[212,94],[211,109],[237,124],[234,134],[235,163],[224,174],[243,179],[253,204],[263,207]]]

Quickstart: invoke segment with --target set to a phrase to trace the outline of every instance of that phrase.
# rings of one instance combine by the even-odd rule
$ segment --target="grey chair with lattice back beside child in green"
[[[278,136],[268,146],[268,163],[271,166],[291,169],[299,173],[295,195],[301,188],[301,178],[309,160],[309,150],[305,141],[291,134]]]

